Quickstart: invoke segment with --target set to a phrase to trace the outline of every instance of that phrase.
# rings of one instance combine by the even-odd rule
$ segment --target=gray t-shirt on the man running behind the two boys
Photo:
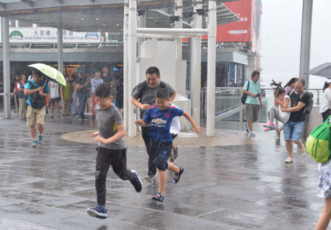
[[[145,92],[143,92],[144,90],[144,85],[146,85],[146,80],[139,82],[138,85],[136,85],[135,88],[133,88],[131,96],[136,98],[136,99],[140,99],[139,102],[141,104],[148,104],[149,106],[152,106],[155,104],[155,90],[160,88],[160,84],[162,81],[160,81],[159,85],[157,85],[154,88],[150,88],[147,85],[147,88],[145,90]],[[169,84],[169,83],[165,83],[163,82],[165,85],[165,89],[168,90],[169,94],[173,94],[175,93],[175,89]],[[142,94],[142,96],[140,97],[140,95]],[[145,110],[140,110],[140,119],[143,119],[145,116],[146,111]]]

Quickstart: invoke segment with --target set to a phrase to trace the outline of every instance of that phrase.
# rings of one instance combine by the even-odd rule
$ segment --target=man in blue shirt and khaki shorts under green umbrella
[[[50,89],[48,84],[42,80],[42,73],[34,71],[32,79],[25,84],[24,94],[28,96],[28,108],[26,112],[27,126],[30,126],[30,133],[32,136],[32,147],[37,147],[37,129],[39,131],[39,144],[43,144],[42,132],[44,131],[44,117],[46,110],[46,97],[50,96]]]

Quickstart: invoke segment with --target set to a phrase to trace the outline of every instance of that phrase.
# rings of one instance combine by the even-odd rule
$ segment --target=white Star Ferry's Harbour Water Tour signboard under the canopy
[[[57,29],[10,27],[10,43],[57,43]],[[63,43],[100,43],[100,33],[63,30]]]

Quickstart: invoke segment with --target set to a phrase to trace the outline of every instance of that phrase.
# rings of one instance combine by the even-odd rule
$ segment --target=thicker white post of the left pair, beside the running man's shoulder
[[[137,75],[137,2],[129,0],[129,90],[136,85]],[[135,106],[129,103],[129,137],[137,135],[137,126],[134,124],[136,114]]]

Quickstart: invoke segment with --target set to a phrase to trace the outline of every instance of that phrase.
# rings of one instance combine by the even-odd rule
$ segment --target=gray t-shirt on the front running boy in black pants
[[[114,105],[102,110],[98,105],[94,106],[96,124],[98,125],[99,135],[103,138],[114,136],[118,130],[117,125],[123,124],[121,112]],[[127,147],[123,138],[110,144],[99,142],[98,146],[108,149],[124,149]]]

